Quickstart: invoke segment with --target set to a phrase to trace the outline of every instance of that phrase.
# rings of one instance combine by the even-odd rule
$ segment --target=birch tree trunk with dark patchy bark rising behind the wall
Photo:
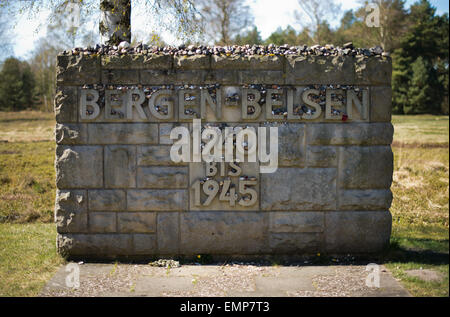
[[[131,42],[131,0],[100,0],[100,36],[103,44]]]

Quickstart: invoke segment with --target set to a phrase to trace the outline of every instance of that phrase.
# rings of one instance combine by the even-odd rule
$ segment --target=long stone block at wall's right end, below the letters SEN
[[[391,123],[308,124],[306,129],[310,145],[387,145],[394,134]]]

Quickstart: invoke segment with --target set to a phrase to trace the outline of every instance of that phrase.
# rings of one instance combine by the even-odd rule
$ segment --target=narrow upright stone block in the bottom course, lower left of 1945
[[[178,254],[179,252],[178,212],[158,212],[158,253]]]

